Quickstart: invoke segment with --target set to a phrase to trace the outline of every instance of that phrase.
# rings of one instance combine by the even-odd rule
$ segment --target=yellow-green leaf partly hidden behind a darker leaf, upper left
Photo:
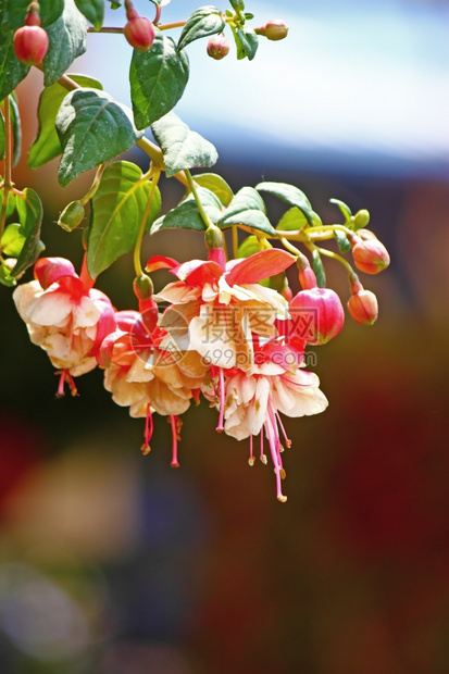
[[[87,77],[86,75],[68,75],[71,79],[76,82],[80,87],[89,87],[91,89],[102,89],[102,85],[98,79]],[[61,142],[54,126],[58,111],[62,101],[67,96],[67,90],[60,84],[54,83],[51,87],[46,87],[39,98],[38,117],[39,130],[37,138],[29,148],[28,166],[29,168],[38,168],[46,162],[59,157],[62,152]]]

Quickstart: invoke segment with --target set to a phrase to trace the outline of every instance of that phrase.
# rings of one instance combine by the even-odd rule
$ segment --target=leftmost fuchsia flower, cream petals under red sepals
[[[18,286],[13,299],[33,344],[47,351],[76,395],[74,376],[93,370],[103,338],[115,328],[109,298],[92,288],[86,270],[80,278],[68,260],[42,258],[35,264],[35,280]]]

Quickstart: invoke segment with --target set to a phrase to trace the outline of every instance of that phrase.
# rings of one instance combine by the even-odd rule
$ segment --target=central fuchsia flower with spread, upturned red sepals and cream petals
[[[276,248],[229,262],[221,249],[212,250],[207,261],[184,264],[153,257],[147,271],[170,269],[179,279],[154,296],[170,302],[160,325],[180,349],[195,350],[217,367],[249,370],[253,364],[252,336],[277,336],[275,321],[288,315],[287,301],[258,282],[294,262],[290,253]]]

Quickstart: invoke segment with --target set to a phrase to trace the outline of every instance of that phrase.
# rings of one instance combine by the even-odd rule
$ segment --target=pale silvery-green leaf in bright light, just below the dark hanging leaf
[[[152,124],[151,130],[162,148],[167,178],[186,168],[212,166],[219,159],[214,146],[191,132],[174,112]]]

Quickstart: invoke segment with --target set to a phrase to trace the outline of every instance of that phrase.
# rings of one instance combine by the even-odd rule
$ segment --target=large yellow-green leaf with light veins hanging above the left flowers
[[[136,245],[151,190],[148,180],[139,183],[141,177],[140,168],[127,161],[110,164],[101,176],[91,200],[87,241],[87,266],[92,277]],[[161,196],[155,188],[146,230],[160,208]]]

